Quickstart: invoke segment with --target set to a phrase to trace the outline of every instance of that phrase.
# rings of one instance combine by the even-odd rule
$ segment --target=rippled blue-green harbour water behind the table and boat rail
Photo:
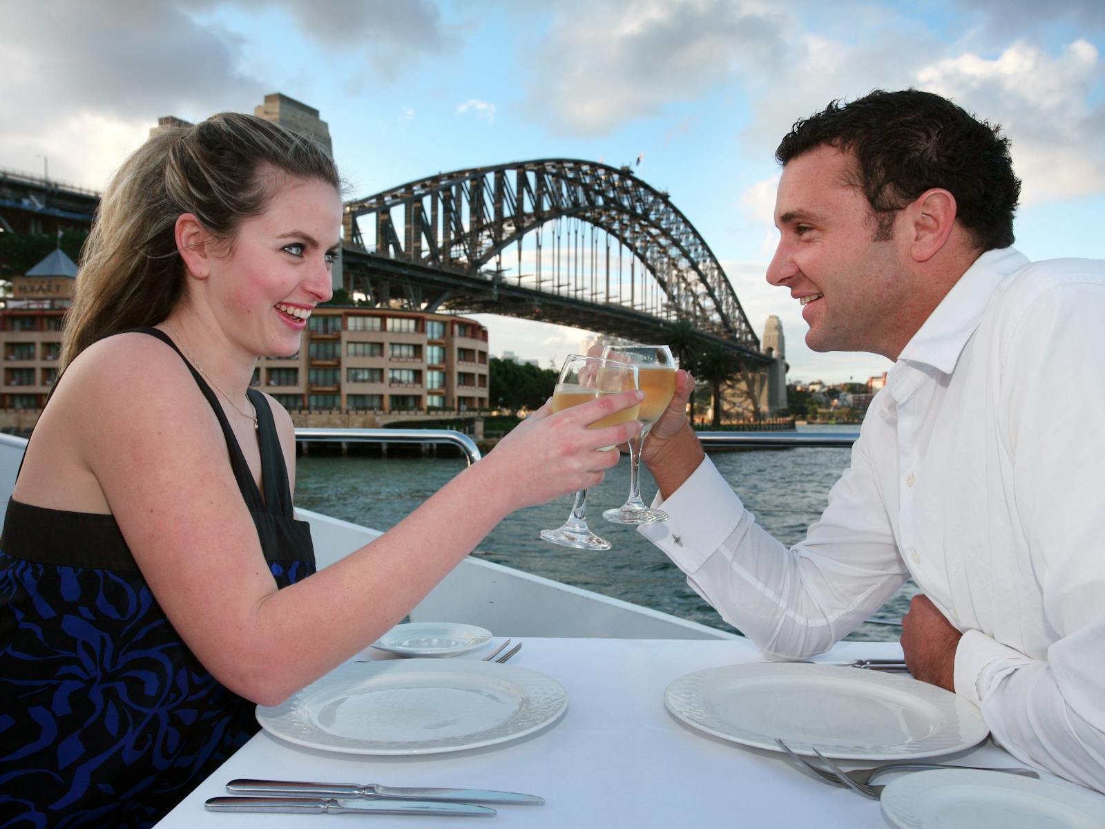
[[[801,427],[800,427],[801,428]],[[857,427],[815,427],[849,431]],[[715,452],[714,463],[759,523],[787,545],[801,541],[824,510],[832,484],[846,468],[848,449],[797,448]],[[338,518],[387,529],[401,521],[464,469],[460,458],[387,459],[369,455],[307,454],[297,461],[296,505]],[[642,495],[655,485],[642,468]],[[558,527],[571,507],[565,497],[508,516],[478,546],[475,555],[546,578],[594,590],[723,630],[733,630],[691,589],[686,577],[632,527],[610,524],[602,511],[620,505],[629,492],[629,459],[623,458],[591,491],[591,528],[613,544],[607,553],[588,553],[541,542],[537,534]],[[473,492],[472,499],[480,499]],[[876,616],[898,619],[917,592],[907,583]],[[863,625],[849,639],[896,640],[896,627]]]

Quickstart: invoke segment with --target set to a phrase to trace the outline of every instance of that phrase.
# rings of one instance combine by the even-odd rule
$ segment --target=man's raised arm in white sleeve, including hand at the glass
[[[684,414],[683,372],[642,457],[669,520],[639,532],[687,575],[687,584],[769,657],[803,659],[831,648],[902,585],[906,568],[877,496],[861,436],[852,465],[821,521],[791,549],[772,538],[705,457]]]

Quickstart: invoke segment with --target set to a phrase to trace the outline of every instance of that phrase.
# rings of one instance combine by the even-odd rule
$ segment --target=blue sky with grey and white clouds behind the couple
[[[102,189],[158,116],[252,112],[272,92],[319,109],[350,198],[506,161],[632,164],[756,332],[780,317],[791,381],[891,365],[807,348],[797,301],[764,280],[775,148],[831,99],[914,86],[1001,124],[1017,246],[1105,256],[1101,0],[0,0],[0,167]],[[493,354],[541,365],[587,336],[480,318]]]

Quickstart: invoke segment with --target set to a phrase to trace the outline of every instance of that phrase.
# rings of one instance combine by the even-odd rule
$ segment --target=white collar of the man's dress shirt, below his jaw
[[[993,290],[1028,263],[1028,258],[1013,248],[987,251],[975,260],[906,343],[898,363],[922,363],[951,374],[981,322]]]

